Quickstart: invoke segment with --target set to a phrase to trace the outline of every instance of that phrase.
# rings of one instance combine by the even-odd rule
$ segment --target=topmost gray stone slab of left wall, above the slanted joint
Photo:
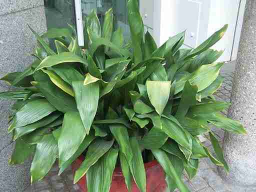
[[[43,5],[43,0],[0,0],[0,15]]]

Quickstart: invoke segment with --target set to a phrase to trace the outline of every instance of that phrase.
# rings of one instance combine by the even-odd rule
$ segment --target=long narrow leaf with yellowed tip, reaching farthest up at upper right
[[[199,46],[194,48],[187,55],[186,59],[190,58],[190,57],[193,57],[194,55],[197,55],[197,54],[207,50],[208,48],[210,48],[213,44],[215,44],[218,40],[220,40],[222,38],[222,36],[225,34],[225,31],[226,31],[227,27],[228,27],[228,25],[225,24],[221,29],[219,29],[218,31],[213,33],[207,40],[205,40]]]

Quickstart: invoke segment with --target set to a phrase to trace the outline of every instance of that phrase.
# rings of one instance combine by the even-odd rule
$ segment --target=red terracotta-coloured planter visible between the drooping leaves
[[[72,163],[73,172],[80,166],[83,159],[84,157],[80,156]],[[146,191],[164,192],[166,190],[165,174],[160,164],[156,160],[153,160],[145,163],[144,166],[146,170]],[[81,192],[87,192],[86,176],[83,176],[78,181],[78,185]],[[131,191],[140,192],[134,181],[132,182]],[[110,192],[128,192],[120,167],[114,169]]]

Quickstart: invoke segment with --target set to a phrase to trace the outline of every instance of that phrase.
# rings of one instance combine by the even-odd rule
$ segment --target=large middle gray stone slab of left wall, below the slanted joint
[[[38,33],[46,30],[43,6],[0,16],[0,76],[22,71],[34,59],[30,53],[36,41],[27,24]],[[9,90],[9,87],[0,81],[0,91],[6,90]],[[10,105],[11,101],[0,99],[0,143],[1,138],[7,135]]]

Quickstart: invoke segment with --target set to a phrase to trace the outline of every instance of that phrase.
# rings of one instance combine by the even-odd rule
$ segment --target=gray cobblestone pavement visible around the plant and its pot
[[[217,100],[229,101],[232,90],[232,72],[222,73],[224,82],[219,90],[215,93]],[[226,114],[226,112],[224,112]],[[224,131],[213,128],[213,131],[222,142]],[[205,146],[212,150],[210,141],[207,136],[202,136],[200,139],[204,140]],[[71,168],[67,169],[62,175],[58,176],[57,164],[51,169],[49,174],[39,182],[29,186],[24,192],[74,192],[79,191],[78,186],[73,184],[73,174]],[[217,175],[217,169],[214,164],[208,159],[201,159],[197,176],[192,180],[188,180],[184,174],[185,184],[189,187],[191,192],[229,192],[231,191],[224,181]],[[178,191],[178,190],[176,190]]]

